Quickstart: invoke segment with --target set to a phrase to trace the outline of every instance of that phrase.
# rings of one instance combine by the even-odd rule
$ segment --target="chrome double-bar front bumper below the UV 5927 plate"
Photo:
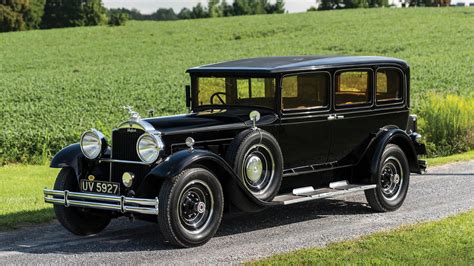
[[[44,201],[66,207],[82,207],[121,213],[158,215],[158,198],[143,199],[108,194],[43,189]]]

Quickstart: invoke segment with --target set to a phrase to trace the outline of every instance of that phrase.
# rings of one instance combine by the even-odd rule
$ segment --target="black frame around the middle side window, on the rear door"
[[[344,105],[337,105],[336,104],[336,86],[338,85],[337,84],[337,75],[339,75],[340,73],[343,73],[343,72],[368,72],[368,77],[369,77],[369,81],[368,81],[368,92],[369,92],[369,101],[367,103],[356,103],[356,104],[344,104]],[[357,68],[342,68],[342,69],[338,69],[336,71],[334,71],[334,76],[333,76],[333,88],[332,88],[332,92],[333,92],[333,99],[332,99],[332,102],[333,102],[333,108],[335,111],[339,111],[339,110],[347,110],[347,109],[369,109],[369,108],[372,108],[374,105],[375,105],[375,97],[374,97],[374,82],[375,82],[375,78],[374,78],[374,70],[370,67],[357,67]]]

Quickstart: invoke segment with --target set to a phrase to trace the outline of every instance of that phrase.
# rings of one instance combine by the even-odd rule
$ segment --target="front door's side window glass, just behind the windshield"
[[[329,80],[330,76],[327,73],[283,77],[283,109],[306,109],[327,106]]]

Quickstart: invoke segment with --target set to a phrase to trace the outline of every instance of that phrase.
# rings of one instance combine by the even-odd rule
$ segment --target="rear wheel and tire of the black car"
[[[410,169],[400,147],[394,144],[385,147],[374,182],[377,187],[365,191],[365,197],[372,209],[389,212],[402,206],[410,184]]]

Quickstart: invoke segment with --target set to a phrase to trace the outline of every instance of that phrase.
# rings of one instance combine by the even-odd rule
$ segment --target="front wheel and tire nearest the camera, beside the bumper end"
[[[158,223],[163,237],[177,247],[205,244],[216,233],[224,211],[217,177],[204,168],[190,168],[166,179],[159,194]]]

